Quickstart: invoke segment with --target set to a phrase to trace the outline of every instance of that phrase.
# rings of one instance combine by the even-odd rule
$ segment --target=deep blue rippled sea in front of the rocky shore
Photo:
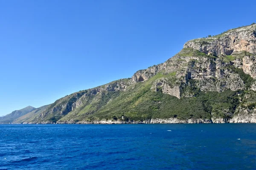
[[[256,124],[0,125],[0,169],[256,169]]]

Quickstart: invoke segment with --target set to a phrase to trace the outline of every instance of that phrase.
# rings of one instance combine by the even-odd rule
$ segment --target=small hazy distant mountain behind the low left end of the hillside
[[[36,108],[34,108],[32,106],[27,106],[26,108],[23,108],[23,109],[20,109],[17,111],[13,111],[12,113],[7,114],[6,116],[0,117],[0,123],[12,123],[15,119],[17,119],[20,116],[23,116],[26,113],[29,113],[35,109]]]

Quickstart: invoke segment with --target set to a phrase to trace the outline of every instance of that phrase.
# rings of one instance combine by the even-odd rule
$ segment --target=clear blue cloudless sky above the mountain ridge
[[[194,38],[256,23],[255,0],[0,0],[0,116],[131,77]]]

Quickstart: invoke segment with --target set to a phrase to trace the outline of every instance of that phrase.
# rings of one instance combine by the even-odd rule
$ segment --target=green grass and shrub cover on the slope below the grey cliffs
[[[86,105],[85,110],[81,110],[79,114],[86,114],[83,118],[86,120],[121,119],[143,121],[147,119],[176,117],[178,119],[202,118],[211,119],[211,113],[215,113],[217,117],[227,118],[229,114],[233,114],[237,105],[239,105],[239,91],[202,92],[195,91],[194,97],[182,97],[178,99],[169,94],[163,94],[161,89],[157,92],[152,91],[152,83],[159,78],[168,77],[172,79],[175,73],[162,74],[158,73],[145,82],[138,82],[127,91],[120,92],[119,96],[113,97],[110,94],[111,101],[101,99],[102,105],[99,108],[91,108],[93,105]],[[99,102],[98,102],[99,103]],[[99,106],[99,105],[98,105]],[[61,120],[70,119],[69,116]],[[77,117],[77,121],[81,119]]]

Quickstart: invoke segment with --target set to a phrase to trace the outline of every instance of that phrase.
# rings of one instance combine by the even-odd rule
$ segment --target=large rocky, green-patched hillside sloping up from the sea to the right
[[[256,122],[256,24],[190,40],[174,57],[79,91],[17,123]]]

